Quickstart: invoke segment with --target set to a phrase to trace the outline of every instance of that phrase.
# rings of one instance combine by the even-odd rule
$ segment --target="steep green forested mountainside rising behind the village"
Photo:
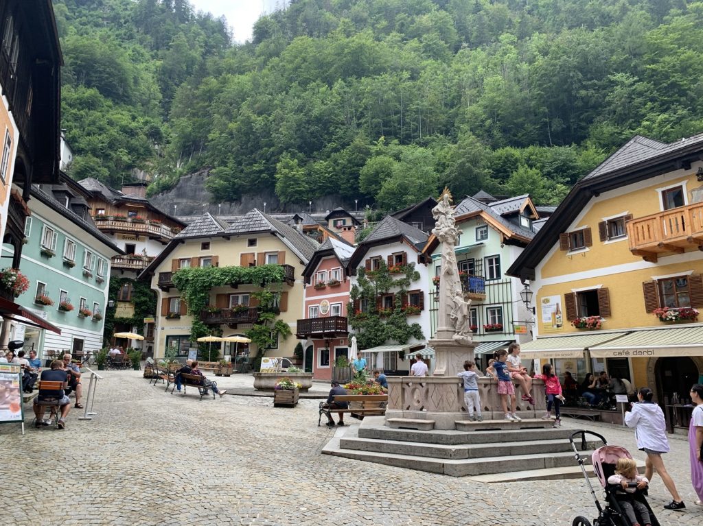
[[[548,204],[635,133],[703,130],[701,2],[292,0],[243,46],[187,0],[54,5],[75,178]]]

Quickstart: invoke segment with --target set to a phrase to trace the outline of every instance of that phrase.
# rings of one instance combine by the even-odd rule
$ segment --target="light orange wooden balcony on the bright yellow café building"
[[[633,256],[656,263],[661,254],[682,254],[703,246],[703,203],[631,219],[626,227]]]

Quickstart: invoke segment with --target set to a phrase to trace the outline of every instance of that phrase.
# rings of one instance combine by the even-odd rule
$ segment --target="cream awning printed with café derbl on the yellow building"
[[[703,356],[703,326],[631,331],[590,350],[594,358]]]

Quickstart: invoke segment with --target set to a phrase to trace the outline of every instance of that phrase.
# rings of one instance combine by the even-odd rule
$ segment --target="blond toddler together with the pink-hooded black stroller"
[[[589,449],[586,435],[595,435],[603,444],[602,447],[595,449],[591,460],[593,461],[593,472],[598,477],[600,485],[605,489],[605,508],[601,506],[598,497],[595,496],[595,489],[593,489],[591,479],[588,478],[586,472],[585,461],[574,443],[574,437],[578,435],[581,435],[581,451]],[[621,446],[609,446],[602,435],[586,430],[572,433],[569,442],[571,442],[572,449],[576,454],[576,461],[581,466],[583,476],[586,477],[588,487],[591,489],[595,506],[598,508],[598,517],[593,520],[594,526],[660,526],[659,520],[654,516],[652,508],[645,498],[647,479],[637,474],[637,464],[627,449]],[[616,484],[610,483],[611,480]],[[627,489],[625,489],[623,480],[626,480]],[[640,520],[638,520],[638,515]],[[579,516],[574,519],[572,526],[591,526],[591,522],[587,518]]]

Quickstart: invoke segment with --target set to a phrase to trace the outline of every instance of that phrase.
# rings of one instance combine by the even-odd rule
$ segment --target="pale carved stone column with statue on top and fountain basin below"
[[[474,359],[476,343],[472,341],[469,305],[459,280],[454,243],[459,235],[451,206],[451,192],[444,189],[437,206],[432,209],[435,226],[432,234],[441,246],[439,279],[439,313],[437,334],[427,344],[434,348],[435,367],[432,376],[388,376],[386,425],[418,429],[456,429],[456,422],[467,419],[463,384],[456,374],[463,371],[465,360]],[[535,381],[541,388],[541,381]],[[516,386],[517,387],[517,386]],[[536,409],[544,409],[543,396],[539,407],[520,402],[519,414],[534,418]],[[484,418],[502,418],[501,401],[493,379],[479,380],[479,394]],[[423,425],[424,421],[424,425]]]

